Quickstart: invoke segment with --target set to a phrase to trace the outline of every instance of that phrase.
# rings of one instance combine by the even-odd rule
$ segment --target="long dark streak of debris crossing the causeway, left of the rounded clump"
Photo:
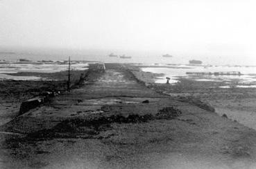
[[[111,123],[145,123],[154,119],[153,115],[111,115],[110,117],[98,117],[93,119],[67,119],[58,123],[55,127],[40,130],[28,134],[30,138],[53,138],[53,137],[79,137],[85,135],[85,139],[99,135],[99,132],[111,128]]]

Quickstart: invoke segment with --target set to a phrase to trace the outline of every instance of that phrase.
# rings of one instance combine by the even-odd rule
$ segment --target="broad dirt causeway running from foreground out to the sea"
[[[1,126],[1,168],[256,168],[256,132],[119,64]]]

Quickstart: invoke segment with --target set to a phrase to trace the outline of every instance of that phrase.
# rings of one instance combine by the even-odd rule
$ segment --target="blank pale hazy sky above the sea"
[[[255,0],[0,0],[0,46],[255,61],[255,17]]]

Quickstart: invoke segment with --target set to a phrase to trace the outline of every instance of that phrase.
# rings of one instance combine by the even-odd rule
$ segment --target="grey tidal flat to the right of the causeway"
[[[219,116],[225,114],[229,119],[256,130],[256,88],[220,88],[227,86],[227,81],[196,81],[195,78],[187,79],[185,77],[177,77],[176,80],[180,82],[169,85],[154,83],[148,79],[152,79],[152,77],[154,80],[157,79],[157,74],[142,70],[137,71],[135,76],[147,83],[150,88],[173,98],[194,97],[203,100],[214,107]],[[232,86],[237,84],[238,80],[228,82]],[[250,84],[246,84],[246,86],[250,86]]]

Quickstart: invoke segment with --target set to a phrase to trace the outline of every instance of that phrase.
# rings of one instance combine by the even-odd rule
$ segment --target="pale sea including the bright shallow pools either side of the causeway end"
[[[126,54],[131,56],[131,59],[120,59],[119,57],[108,57],[108,54],[114,53],[117,55]],[[173,54],[173,57],[162,57],[160,52],[138,52],[130,50],[0,50],[0,63],[5,61],[17,61],[18,59],[29,59],[31,61],[64,61],[79,60],[85,63],[86,61],[101,61],[105,63],[139,63],[139,65],[148,66],[148,68],[142,68],[146,72],[163,73],[163,77],[159,77],[156,83],[165,83],[166,77],[171,77],[171,83],[176,83],[178,77],[189,76],[186,72],[230,72],[239,71],[243,75],[241,76],[206,76],[205,78],[196,79],[197,81],[228,81],[229,79],[239,79],[242,83],[251,83],[255,81],[256,67],[254,66],[214,66],[214,62],[207,59],[203,61],[205,66],[190,66],[188,65],[189,59],[196,59],[195,57],[186,57],[182,54]],[[235,59],[233,59],[235,60]],[[225,62],[223,62],[224,64]],[[86,63],[85,63],[86,64]],[[210,65],[212,64],[212,65]],[[85,69],[86,65],[74,65],[71,68]],[[156,66],[152,68],[151,66]],[[167,68],[162,68],[162,66]],[[168,68],[169,66],[169,68]],[[174,67],[174,68],[173,68]],[[0,79],[7,78],[12,79],[10,75],[3,75],[4,73],[15,72],[58,72],[67,70],[67,65],[61,64],[15,64],[4,65],[0,64]],[[19,77],[22,78],[22,77]],[[23,77],[24,78],[24,77]],[[31,77],[29,77],[31,78]]]

